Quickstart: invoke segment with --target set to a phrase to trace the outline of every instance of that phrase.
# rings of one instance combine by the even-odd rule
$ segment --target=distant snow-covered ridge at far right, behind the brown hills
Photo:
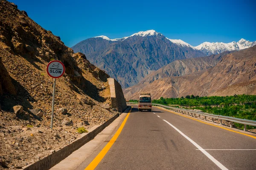
[[[204,54],[206,55],[212,55],[212,54],[219,54],[225,51],[247,49],[255,45],[256,45],[256,41],[250,42],[242,38],[238,42],[233,41],[231,43],[204,42],[204,43],[201,43],[199,46],[195,46],[195,48],[204,52]]]

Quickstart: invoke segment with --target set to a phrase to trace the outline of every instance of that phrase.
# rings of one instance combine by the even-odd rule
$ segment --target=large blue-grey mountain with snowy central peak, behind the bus
[[[171,40],[154,30],[129,37],[110,39],[99,36],[72,47],[116,78],[123,88],[137,84],[152,71],[175,60],[202,57],[204,53],[181,40]]]

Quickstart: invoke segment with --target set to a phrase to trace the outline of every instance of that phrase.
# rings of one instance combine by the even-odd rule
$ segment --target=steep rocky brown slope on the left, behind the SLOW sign
[[[66,67],[56,82],[53,130],[53,79],[46,73],[51,60]],[[107,78],[84,54],[0,0],[0,169],[42,159],[80,138],[78,127],[113,117],[117,112],[103,107],[110,104]]]

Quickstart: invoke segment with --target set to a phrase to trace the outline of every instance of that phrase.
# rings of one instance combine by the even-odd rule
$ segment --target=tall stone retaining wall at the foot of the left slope
[[[112,108],[117,109],[118,112],[123,112],[127,105],[121,85],[114,78],[108,78],[108,84]]]

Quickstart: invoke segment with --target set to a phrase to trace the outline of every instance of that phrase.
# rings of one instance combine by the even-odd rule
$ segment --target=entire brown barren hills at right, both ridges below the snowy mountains
[[[139,84],[124,89],[125,98],[137,99],[141,92],[150,92],[155,99],[192,94],[256,95],[256,46],[226,54],[175,61],[166,67],[168,69],[164,67],[152,72]],[[164,76],[163,72],[168,75]],[[180,75],[177,76],[177,73]],[[158,75],[161,77],[157,78]]]

